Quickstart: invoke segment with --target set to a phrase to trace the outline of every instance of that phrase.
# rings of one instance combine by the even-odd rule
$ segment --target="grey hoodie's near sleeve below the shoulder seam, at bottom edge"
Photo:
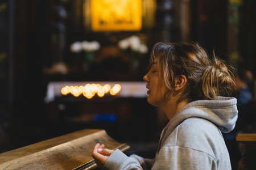
[[[152,169],[217,169],[216,160],[204,152],[179,146],[163,147]]]

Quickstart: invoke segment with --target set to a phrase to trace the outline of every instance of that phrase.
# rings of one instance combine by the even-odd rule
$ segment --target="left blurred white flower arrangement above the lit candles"
[[[70,50],[72,53],[81,54],[86,62],[93,62],[93,53],[99,50],[100,47],[101,45],[98,41],[76,41],[71,44]]]

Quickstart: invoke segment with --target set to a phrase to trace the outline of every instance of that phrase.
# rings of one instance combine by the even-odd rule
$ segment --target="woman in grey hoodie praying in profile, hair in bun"
[[[126,156],[99,143],[92,156],[103,169],[231,169],[222,133],[234,129],[237,100],[234,79],[224,62],[199,44],[158,42],[144,76],[148,103],[170,120],[154,160]]]

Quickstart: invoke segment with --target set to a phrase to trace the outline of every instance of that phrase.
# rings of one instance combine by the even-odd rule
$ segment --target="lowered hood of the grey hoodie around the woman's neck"
[[[173,131],[186,118],[200,117],[215,124],[223,133],[229,133],[236,125],[237,114],[237,99],[234,97],[196,100],[181,108],[168,122],[166,129]]]

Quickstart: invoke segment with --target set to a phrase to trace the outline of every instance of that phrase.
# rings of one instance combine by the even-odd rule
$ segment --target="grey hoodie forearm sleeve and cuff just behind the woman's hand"
[[[103,169],[151,169],[152,160],[138,155],[126,156],[120,150],[115,150],[106,160]]]

